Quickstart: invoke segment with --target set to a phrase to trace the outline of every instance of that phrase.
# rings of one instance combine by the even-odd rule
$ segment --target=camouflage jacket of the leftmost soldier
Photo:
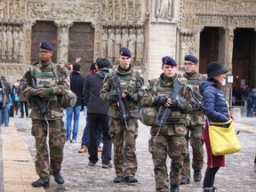
[[[59,64],[52,62],[47,65],[42,65],[41,62],[36,62],[29,67],[32,75],[36,78],[36,90],[30,84],[27,73],[23,76],[22,92],[28,98],[32,111],[30,117],[34,119],[45,119],[41,115],[35,100],[35,94],[39,90],[47,89],[51,91],[48,96],[44,97],[45,102],[50,110],[46,116],[48,120],[60,119],[63,116],[63,108],[60,107],[59,97],[64,95],[70,89],[68,69]],[[51,89],[49,89],[51,88]]]

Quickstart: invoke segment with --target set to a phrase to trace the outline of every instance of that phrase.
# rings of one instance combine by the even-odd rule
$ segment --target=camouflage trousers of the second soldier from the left
[[[135,154],[138,136],[138,120],[127,120],[128,129],[124,130],[124,120],[110,119],[110,135],[114,144],[114,166],[116,175],[128,177],[137,172],[137,156]]]

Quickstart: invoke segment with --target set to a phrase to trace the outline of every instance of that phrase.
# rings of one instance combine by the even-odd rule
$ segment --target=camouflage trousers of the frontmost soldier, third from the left
[[[156,180],[156,191],[169,191],[167,154],[172,159],[170,183],[180,185],[180,170],[183,157],[187,153],[186,140],[179,135],[152,136],[148,141],[149,153],[152,154]]]

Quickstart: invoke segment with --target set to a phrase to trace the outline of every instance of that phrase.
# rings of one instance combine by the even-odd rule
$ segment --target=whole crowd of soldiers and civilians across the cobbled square
[[[33,63],[12,87],[1,76],[0,85],[7,95],[4,98],[6,104],[3,108],[0,106],[5,126],[8,126],[9,115],[18,116],[19,106],[20,118],[28,117],[29,100],[32,135],[36,140],[36,173],[39,176],[32,186],[49,187],[51,175],[58,184],[65,182],[60,174],[63,148],[66,142],[77,142],[80,112],[86,108],[86,124],[78,152],[89,153],[89,166],[98,163],[98,152],[101,152],[102,168],[109,169],[113,167],[113,144],[114,183],[138,182],[136,139],[140,118],[143,124],[150,126],[148,150],[154,164],[156,191],[179,192],[180,185],[190,183],[189,142],[193,155],[193,180],[200,182],[203,179],[205,144],[207,168],[202,188],[204,192],[216,191],[215,175],[225,165],[225,156],[212,155],[208,124],[228,122],[232,118],[221,90],[228,73],[223,64],[209,63],[205,76],[197,72],[198,59],[186,55],[184,75],[180,75],[177,62],[164,56],[159,66],[163,73],[149,80],[146,86],[141,74],[130,64],[132,52],[126,47],[120,49],[116,69],[110,70],[108,59],[98,58],[86,77],[80,73],[79,58],[75,64],[65,67],[53,64],[52,50],[51,43],[42,42],[39,61]],[[247,100],[247,106],[250,106],[250,100]],[[250,114],[251,110],[247,108],[247,114],[248,111]],[[169,176],[167,156],[172,159]],[[256,169],[255,164],[256,157]]]

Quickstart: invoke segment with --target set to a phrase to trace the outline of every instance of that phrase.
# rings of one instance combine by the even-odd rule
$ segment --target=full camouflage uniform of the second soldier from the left
[[[127,120],[127,130],[125,130],[120,109],[115,105],[111,105],[108,110],[109,132],[113,137],[114,144],[116,175],[127,178],[132,175],[134,176],[137,172],[135,140],[138,136],[138,92],[144,80],[139,72],[134,71],[132,66],[128,69],[123,69],[119,66],[105,77],[104,84],[100,90],[100,97],[108,102],[108,92],[113,91],[111,81],[115,76],[118,76],[120,79],[121,92],[129,92],[134,96],[134,100],[128,103],[131,117]]]

